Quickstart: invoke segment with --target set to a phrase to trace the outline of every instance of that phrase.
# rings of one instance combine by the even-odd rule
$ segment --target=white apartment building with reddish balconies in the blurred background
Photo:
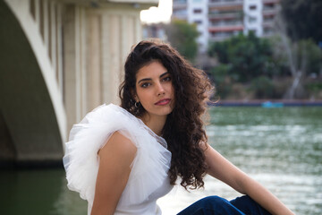
[[[174,0],[172,19],[196,23],[199,51],[209,41],[228,39],[240,32],[258,37],[272,34],[280,0]]]

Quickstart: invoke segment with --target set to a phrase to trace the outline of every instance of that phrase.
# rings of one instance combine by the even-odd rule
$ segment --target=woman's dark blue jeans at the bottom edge
[[[257,202],[243,195],[232,201],[227,201],[216,195],[208,196],[194,202],[177,215],[269,215]]]

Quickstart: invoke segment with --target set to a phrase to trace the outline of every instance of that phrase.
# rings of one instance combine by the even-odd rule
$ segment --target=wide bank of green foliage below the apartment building
[[[219,62],[210,73],[221,99],[282,99],[290,90],[296,92],[294,99],[321,98],[316,82],[322,50],[312,39],[294,42],[283,36],[259,39],[253,33],[240,34],[211,44],[208,55]]]

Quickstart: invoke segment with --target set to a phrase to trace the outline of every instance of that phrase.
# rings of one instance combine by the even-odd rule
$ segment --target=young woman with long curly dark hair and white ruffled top
[[[202,187],[206,174],[245,195],[209,196],[179,214],[293,214],[208,145],[202,116],[213,87],[205,73],[152,41],[134,47],[124,69],[121,107],[97,107],[66,143],[68,187],[89,202],[89,214],[161,214],[159,197],[176,182]]]

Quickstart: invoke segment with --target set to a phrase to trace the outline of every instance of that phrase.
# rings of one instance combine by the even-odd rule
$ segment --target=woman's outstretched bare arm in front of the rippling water
[[[275,195],[270,193],[264,186],[247,176],[239,168],[225,159],[219,152],[210,145],[201,145],[205,150],[208,174],[230,185],[236,191],[249,195],[263,208],[272,214],[293,214],[286,206],[280,202]]]

